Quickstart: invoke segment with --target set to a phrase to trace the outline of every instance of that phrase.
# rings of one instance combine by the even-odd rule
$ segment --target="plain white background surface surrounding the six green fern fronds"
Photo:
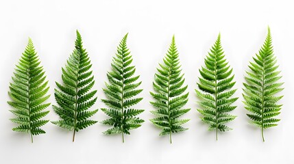
[[[0,3],[0,163],[294,163],[293,131],[293,37],[294,10],[291,1],[1,1]],[[284,104],[280,125],[265,132],[262,143],[260,130],[247,123],[241,87],[243,74],[251,57],[265,40],[267,25],[271,27],[275,55],[285,82]],[[49,79],[51,98],[54,81],[61,81],[61,67],[73,50],[75,30],[78,29],[93,62],[95,89],[99,100],[95,108],[104,107],[100,99],[106,81],[106,72],[119,41],[129,32],[128,46],[134,57],[137,74],[143,81],[140,94],[144,99],[138,108],[146,109],[140,115],[145,120],[132,135],[106,136],[101,132],[108,126],[95,124],[76,135],[53,124],[43,126],[46,135],[34,137],[11,131],[13,124],[8,98],[14,64],[17,63],[31,37]],[[229,125],[234,128],[221,133],[208,132],[197,113],[196,88],[198,69],[204,56],[221,32],[226,58],[234,68],[240,98],[232,112],[238,118]],[[190,92],[186,107],[192,110],[184,115],[191,118],[185,126],[188,131],[168,137],[158,137],[149,118],[154,109],[149,91],[158,62],[166,53],[175,34],[183,72]],[[94,108],[93,108],[94,109]],[[51,111],[47,119],[59,119]],[[94,120],[107,118],[100,110]]]

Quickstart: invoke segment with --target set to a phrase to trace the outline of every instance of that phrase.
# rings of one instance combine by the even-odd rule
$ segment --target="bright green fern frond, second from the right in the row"
[[[221,47],[221,35],[210,49],[204,61],[205,66],[199,69],[201,77],[197,83],[199,90],[195,90],[197,96],[201,98],[198,102],[202,109],[197,109],[203,117],[201,120],[209,124],[209,131],[229,131],[225,123],[236,118],[228,112],[234,110],[236,106],[232,106],[238,98],[232,98],[236,90],[232,87],[236,82],[233,81],[234,75],[232,68],[228,65]],[[202,92],[201,92],[202,91]]]

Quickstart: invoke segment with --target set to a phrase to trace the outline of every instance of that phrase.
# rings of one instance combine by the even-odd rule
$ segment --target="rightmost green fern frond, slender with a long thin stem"
[[[273,55],[270,29],[259,54],[253,59],[254,62],[250,62],[249,65],[252,71],[247,72],[245,77],[247,83],[244,83],[243,89],[244,104],[245,109],[250,112],[247,114],[252,119],[250,123],[261,128],[262,141],[265,141],[264,129],[277,126],[277,122],[280,121],[274,117],[280,114],[282,105],[278,105],[277,102],[283,96],[275,96],[275,94],[284,89],[281,87],[283,83],[278,83],[281,76],[279,76],[280,71],[277,70],[277,60]]]

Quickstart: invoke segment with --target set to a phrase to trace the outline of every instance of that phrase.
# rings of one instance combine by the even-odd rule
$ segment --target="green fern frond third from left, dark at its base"
[[[103,89],[107,99],[102,101],[109,107],[101,111],[110,116],[103,120],[102,124],[108,124],[113,128],[104,132],[106,135],[123,134],[130,135],[130,130],[138,128],[144,120],[136,118],[144,109],[133,109],[132,106],[138,104],[143,98],[134,98],[143,90],[137,89],[141,82],[136,82],[140,76],[135,76],[136,68],[132,66],[132,55],[127,49],[127,34],[117,47],[117,54],[112,60],[112,71],[107,73],[109,83]]]

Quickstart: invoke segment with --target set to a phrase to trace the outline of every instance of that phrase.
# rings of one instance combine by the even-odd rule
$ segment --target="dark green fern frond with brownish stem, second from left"
[[[75,49],[62,68],[64,85],[56,82],[58,89],[55,90],[55,98],[59,106],[53,105],[53,109],[62,120],[52,122],[73,131],[73,141],[75,141],[75,132],[97,122],[88,120],[98,111],[98,109],[88,111],[97,100],[95,97],[97,90],[90,91],[95,83],[91,67],[88,53],[83,49],[82,37],[77,31]]]

